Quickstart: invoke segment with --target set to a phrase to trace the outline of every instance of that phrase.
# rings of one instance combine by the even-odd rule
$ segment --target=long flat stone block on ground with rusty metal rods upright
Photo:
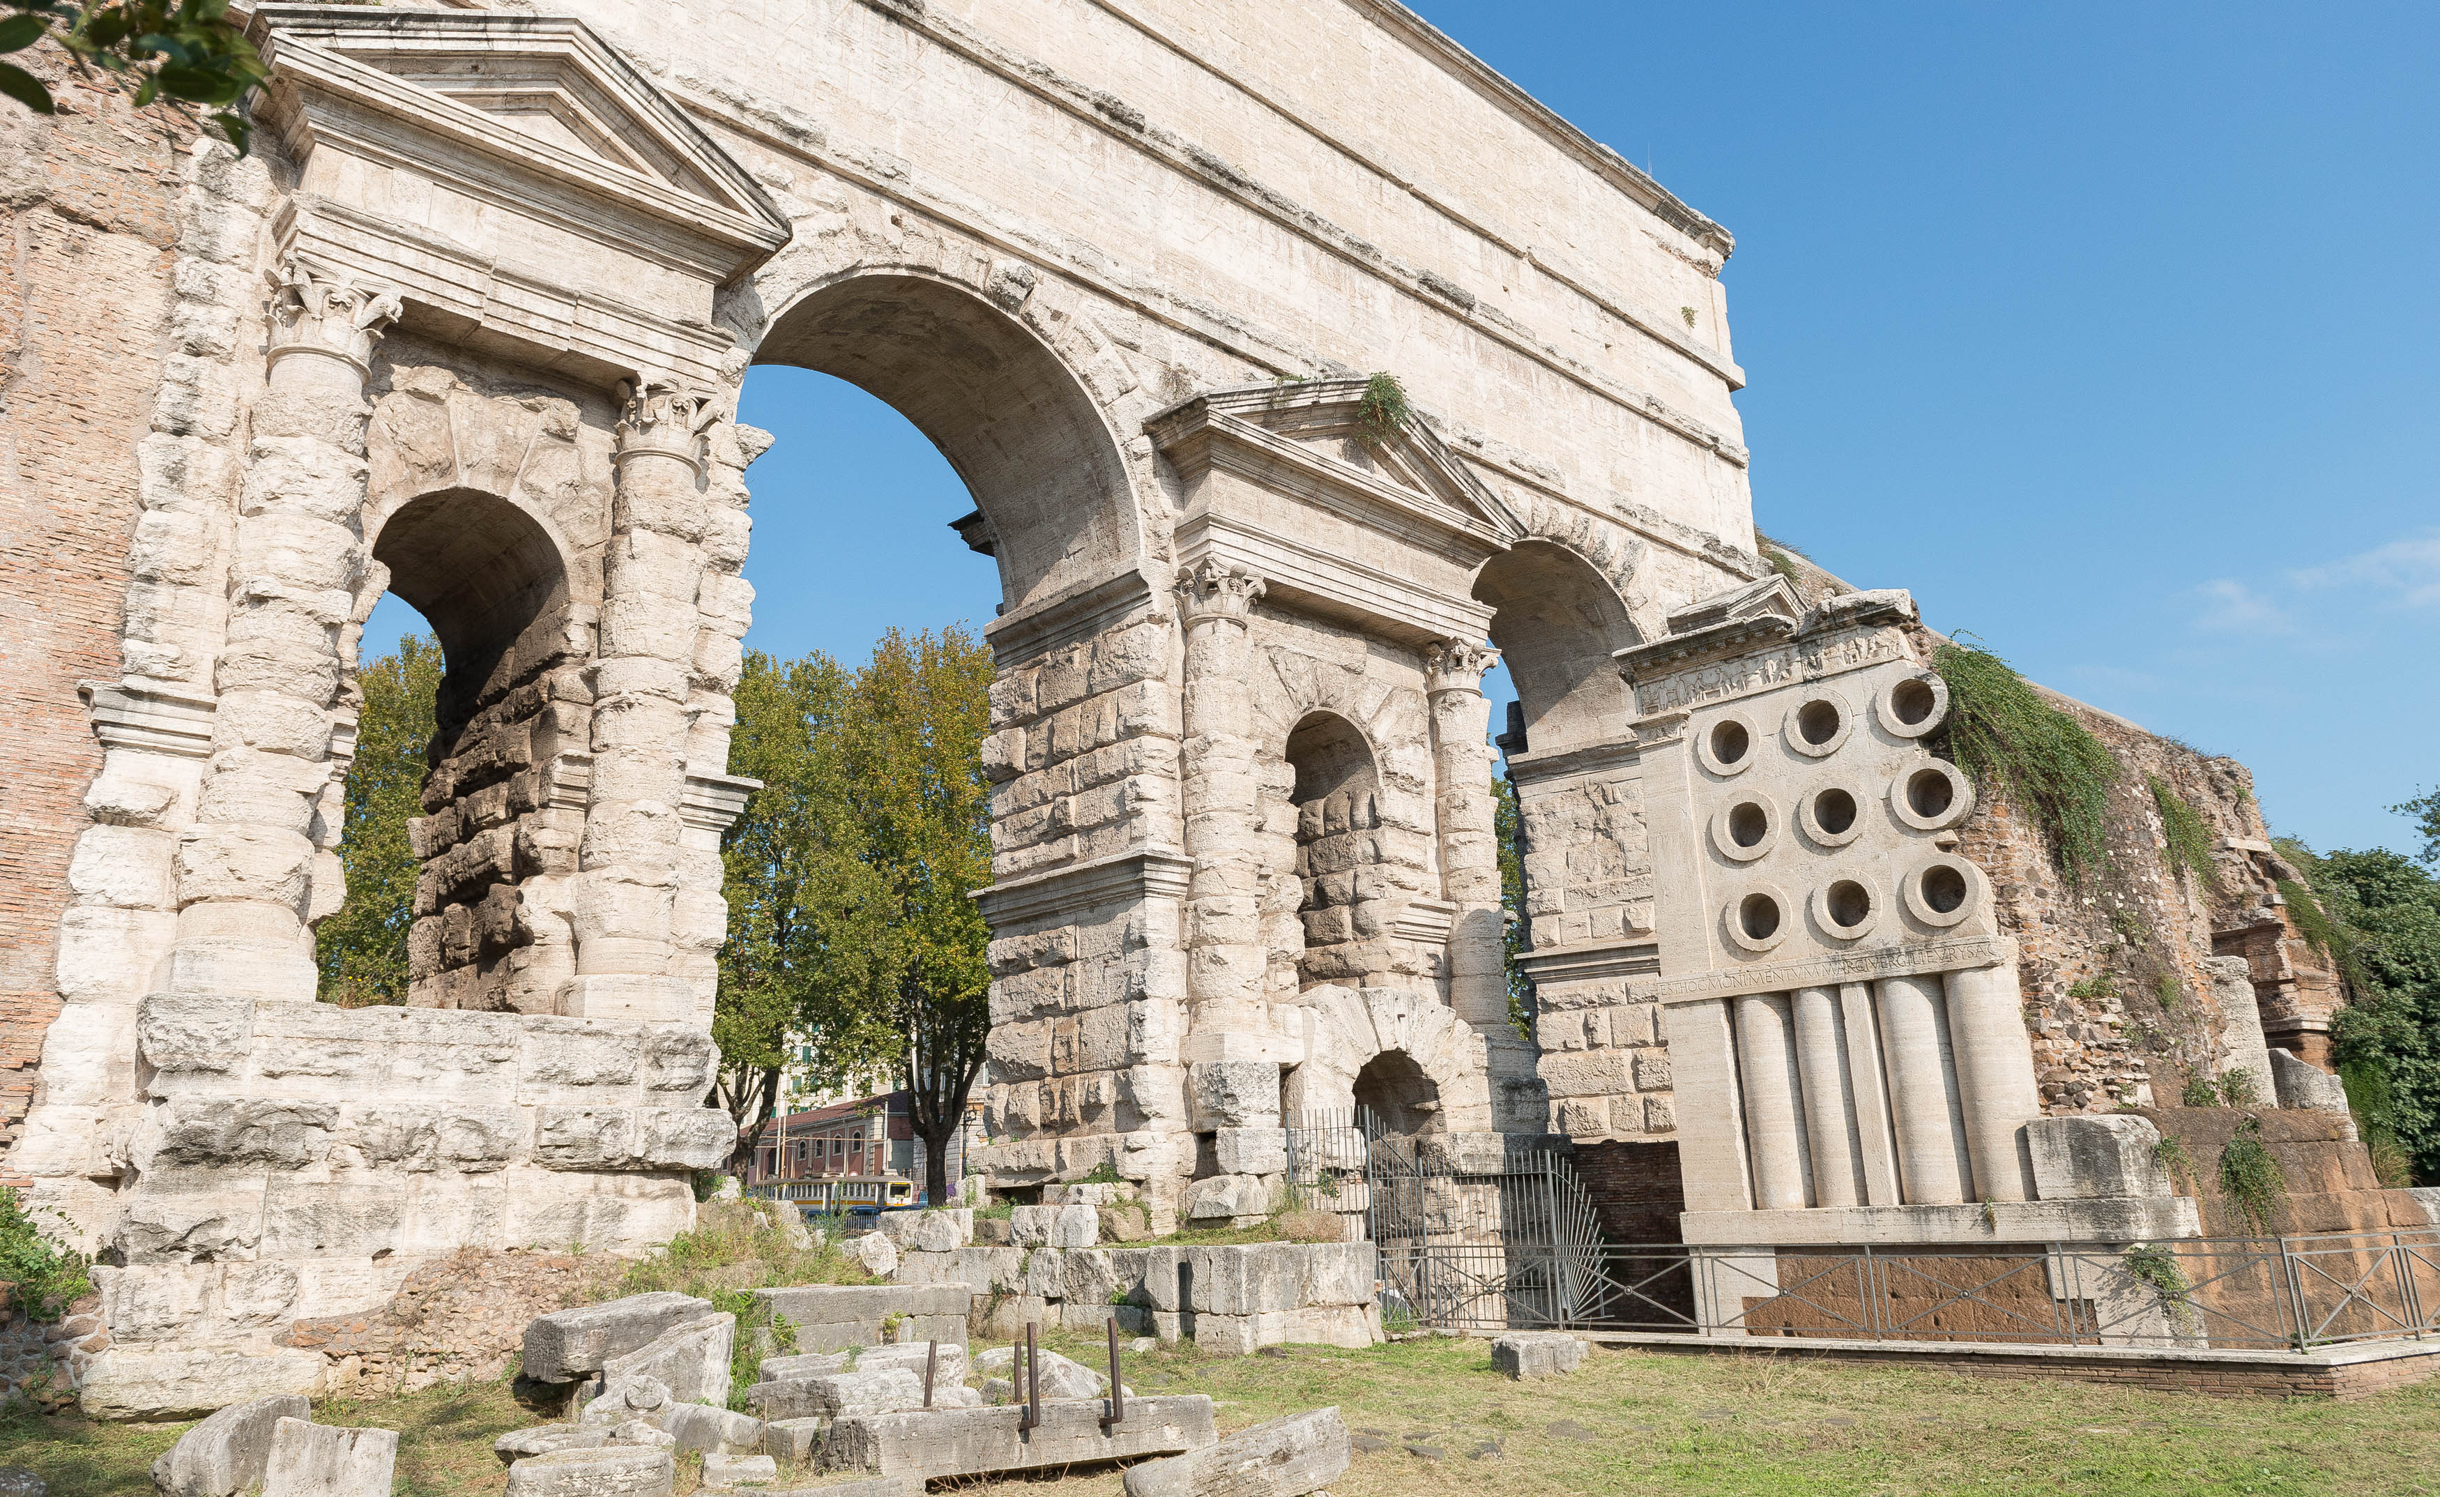
[[[1218,1441],[1203,1394],[1127,1399],[1127,1419],[1103,1429],[1100,1404],[1044,1404],[1042,1424],[1020,1431],[1022,1409],[859,1414],[830,1426],[822,1463],[903,1477],[974,1477],[1059,1470],[1100,1460],[1183,1455]]]

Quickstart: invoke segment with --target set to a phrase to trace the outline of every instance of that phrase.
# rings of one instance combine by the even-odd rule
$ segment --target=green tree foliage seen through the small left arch
[[[432,701],[442,686],[442,647],[407,635],[398,654],[368,662],[356,681],[356,762],[346,769],[346,825],[339,862],[346,904],[315,928],[322,1001],[344,1006],[407,1001],[407,928],[415,926],[415,852],[407,821],[425,813],[432,750]]]

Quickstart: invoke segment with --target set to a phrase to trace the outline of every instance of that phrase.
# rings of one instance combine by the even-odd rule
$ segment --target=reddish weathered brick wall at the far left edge
[[[22,59],[12,59],[22,61]],[[100,769],[76,684],[117,679],[137,440],[151,427],[193,129],[49,59],[59,115],[0,105],[0,1143],[59,1011],[68,852]]]

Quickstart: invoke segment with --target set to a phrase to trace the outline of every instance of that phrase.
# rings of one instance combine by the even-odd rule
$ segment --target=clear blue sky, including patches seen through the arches
[[[2384,806],[2440,781],[2440,7],[1418,10],[1737,234],[1764,530],[2245,759],[2277,830],[2408,847]],[[781,437],[749,645],[991,618],[964,488],[895,413],[761,369],[742,415]]]

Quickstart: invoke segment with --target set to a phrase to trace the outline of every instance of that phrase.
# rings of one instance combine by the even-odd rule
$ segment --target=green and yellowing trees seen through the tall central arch
[[[895,1077],[947,1199],[947,1155],[991,1033],[991,650],[959,628],[891,630],[847,674],[749,654],[730,764],[764,781],[725,840],[717,1099],[752,1150],[778,1111],[786,1048],[822,1089]]]

